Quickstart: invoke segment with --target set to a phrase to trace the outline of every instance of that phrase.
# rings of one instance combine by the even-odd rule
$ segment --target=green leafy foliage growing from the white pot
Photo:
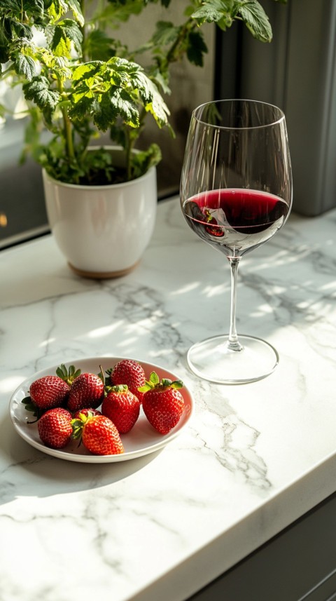
[[[202,28],[215,23],[225,30],[240,20],[256,39],[272,40],[258,0],[188,0],[181,22],[158,21],[148,41],[132,50],[111,35],[151,5],[169,8],[173,1],[1,0],[0,78],[22,86],[29,114],[22,159],[31,154],[52,177],[70,183],[140,177],[160,161],[160,149],[132,150],[148,117],[171,130],[163,97],[170,93],[170,67],[184,57],[202,67]],[[151,58],[146,69],[139,64],[144,53],[146,62]],[[104,148],[87,151],[106,131],[125,149],[123,173]]]

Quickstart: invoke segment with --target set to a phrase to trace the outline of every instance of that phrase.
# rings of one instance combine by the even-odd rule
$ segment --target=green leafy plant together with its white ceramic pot
[[[151,238],[161,153],[157,144],[136,147],[148,117],[169,128],[171,65],[186,57],[202,66],[207,23],[242,20],[255,38],[272,39],[257,0],[189,0],[181,23],[157,22],[139,48],[112,36],[151,4],[169,14],[171,1],[1,0],[1,79],[22,86],[27,103],[22,156],[41,165],[50,227],[83,275],[127,273]],[[106,147],[106,135],[118,149]]]

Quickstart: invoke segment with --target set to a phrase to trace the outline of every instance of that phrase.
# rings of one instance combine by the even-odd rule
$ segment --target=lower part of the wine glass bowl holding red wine
[[[228,188],[188,198],[183,213],[200,238],[228,257],[241,257],[276,234],[288,205],[267,192]]]

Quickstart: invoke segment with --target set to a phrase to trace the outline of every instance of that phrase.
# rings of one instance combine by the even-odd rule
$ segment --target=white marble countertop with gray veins
[[[1,601],[183,601],[336,489],[336,210],[292,215],[241,261],[238,330],[276,346],[271,376],[215,386],[191,343],[228,330],[229,266],[159,204],[141,264],[80,279],[52,236],[0,252]],[[28,445],[8,414],[37,370],[129,356],[195,396],[164,450],[77,464]]]

